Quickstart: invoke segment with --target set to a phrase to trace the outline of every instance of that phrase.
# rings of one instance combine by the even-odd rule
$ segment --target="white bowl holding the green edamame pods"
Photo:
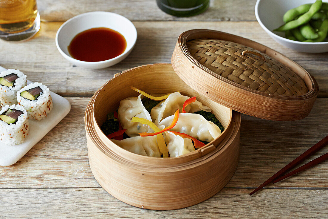
[[[272,32],[284,24],[282,17],[285,12],[297,6],[314,2],[315,0],[257,0],[255,16],[265,32],[281,45],[305,53],[324,53],[328,52],[328,42],[298,42],[286,39],[284,32]],[[327,2],[327,0],[322,2]]]

